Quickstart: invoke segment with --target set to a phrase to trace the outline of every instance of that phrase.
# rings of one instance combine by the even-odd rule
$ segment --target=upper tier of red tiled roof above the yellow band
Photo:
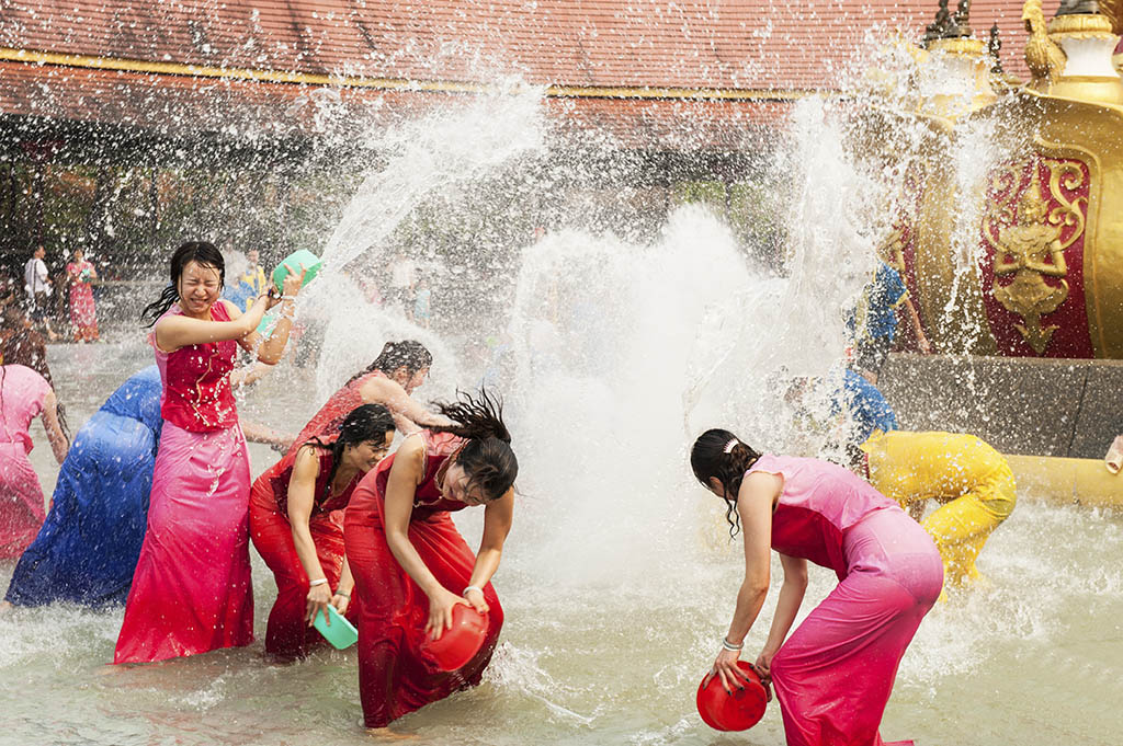
[[[1051,16],[1059,0],[1046,0]],[[934,0],[37,0],[6,3],[0,45],[147,62],[600,86],[830,89],[880,25],[919,37]],[[1019,0],[976,0],[1024,73]]]

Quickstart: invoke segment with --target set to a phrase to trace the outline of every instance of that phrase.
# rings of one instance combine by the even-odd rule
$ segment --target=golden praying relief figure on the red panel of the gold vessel
[[[1014,324],[1030,347],[1042,354],[1057,326],[1042,326],[1041,316],[1056,311],[1068,297],[1068,280],[1046,283],[1048,277],[1065,277],[1065,248],[1060,227],[1049,224],[1049,205],[1041,199],[1037,174],[1017,205],[1017,223],[1003,228],[994,254],[995,277],[1013,273],[1010,285],[995,283],[994,297],[1004,308],[1025,322]]]

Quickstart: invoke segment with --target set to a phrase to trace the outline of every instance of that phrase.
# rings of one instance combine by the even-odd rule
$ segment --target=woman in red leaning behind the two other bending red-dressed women
[[[351,376],[308,421],[295,442],[335,432],[359,404],[381,404],[390,409],[398,430],[405,435],[416,433],[420,425],[447,425],[445,417],[410,398],[413,389],[424,383],[431,365],[432,353],[421,342],[386,342],[374,362]],[[295,444],[290,451],[294,449]]]

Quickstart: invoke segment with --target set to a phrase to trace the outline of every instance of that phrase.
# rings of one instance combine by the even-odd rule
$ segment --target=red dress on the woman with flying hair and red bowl
[[[424,478],[417,488],[409,538],[437,580],[459,595],[472,579],[476,558],[449,515],[466,506],[441,498],[437,472],[464,441],[428,430],[419,435],[426,444]],[[383,524],[386,481],[395,455],[363,478],[344,514],[344,540],[358,602],[358,691],[367,728],[385,727],[454,691],[478,684],[503,626],[499,597],[487,583],[484,598],[491,611],[480,652],[451,672],[437,670],[421,654],[429,598],[398,564]]]

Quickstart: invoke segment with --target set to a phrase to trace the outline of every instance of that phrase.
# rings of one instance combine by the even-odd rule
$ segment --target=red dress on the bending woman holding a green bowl
[[[335,439],[323,440],[330,445]],[[289,481],[298,451],[294,449],[258,477],[249,498],[249,536],[277,583],[277,600],[273,604],[265,628],[265,652],[286,660],[304,657],[312,645],[323,642],[323,637],[304,621],[308,573],[296,554],[292,524],[289,523]],[[329,496],[329,478],[335,460],[331,451],[319,450],[318,457],[320,471],[316,477],[308,528],[328,586],[336,590],[344,565],[343,510],[362,475],[356,475],[337,495]],[[347,616],[353,617],[354,613],[348,610]]]

